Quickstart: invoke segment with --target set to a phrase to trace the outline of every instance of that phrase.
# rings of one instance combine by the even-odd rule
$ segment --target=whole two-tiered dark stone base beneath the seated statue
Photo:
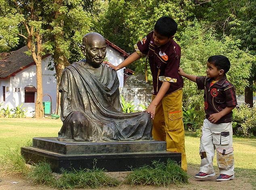
[[[35,137],[32,147],[22,147],[26,162],[47,161],[53,172],[93,167],[108,172],[130,171],[168,158],[180,165],[181,153],[166,151],[164,141],[62,142],[57,137]]]

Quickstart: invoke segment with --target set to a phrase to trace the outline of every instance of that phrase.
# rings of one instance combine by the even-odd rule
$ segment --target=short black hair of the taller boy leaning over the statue
[[[170,16],[162,16],[155,22],[154,30],[162,36],[172,37],[178,29],[178,25]]]

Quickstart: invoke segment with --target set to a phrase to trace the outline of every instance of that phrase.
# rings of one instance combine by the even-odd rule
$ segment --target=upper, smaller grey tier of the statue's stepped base
[[[60,154],[134,153],[166,151],[164,141],[63,142],[57,137],[34,137],[34,148]]]

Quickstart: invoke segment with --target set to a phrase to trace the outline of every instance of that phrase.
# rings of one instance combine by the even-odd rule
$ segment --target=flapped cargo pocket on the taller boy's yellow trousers
[[[181,129],[183,127],[182,123],[182,111],[175,111],[168,113],[168,130],[174,131]]]

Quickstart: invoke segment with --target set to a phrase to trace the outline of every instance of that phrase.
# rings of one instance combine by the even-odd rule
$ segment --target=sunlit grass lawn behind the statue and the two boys
[[[8,148],[26,145],[33,137],[57,137],[61,125],[60,119],[0,118],[0,156]],[[199,142],[199,137],[186,133],[187,162],[189,167],[197,169],[200,165]],[[233,137],[233,147],[236,174],[249,177],[248,182],[256,187],[256,139]],[[216,158],[214,166],[217,167]]]

